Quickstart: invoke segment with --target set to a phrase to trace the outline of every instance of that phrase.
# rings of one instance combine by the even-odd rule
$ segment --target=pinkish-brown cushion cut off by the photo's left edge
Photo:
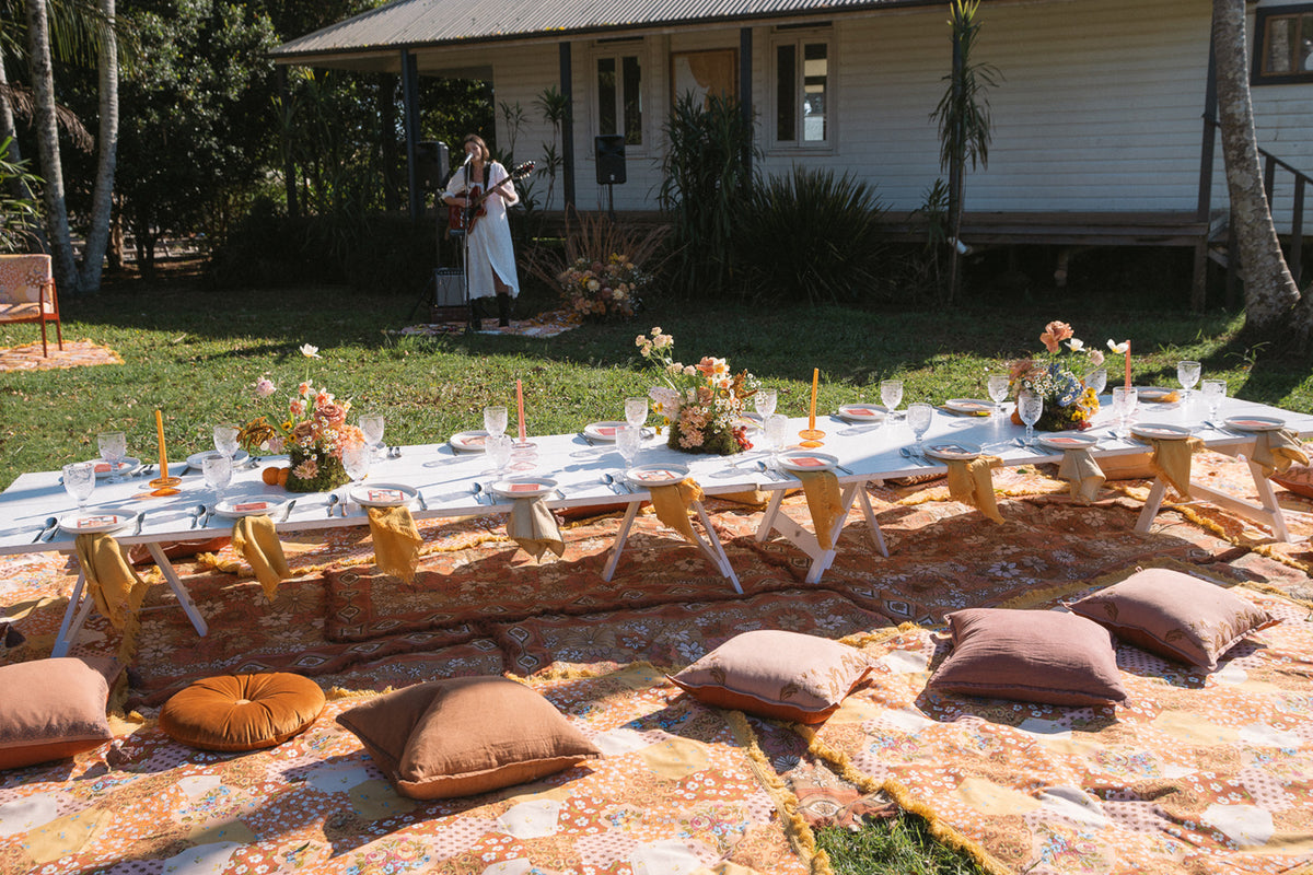
[[[105,719],[113,660],[0,666],[0,769],[62,760],[114,737]]]

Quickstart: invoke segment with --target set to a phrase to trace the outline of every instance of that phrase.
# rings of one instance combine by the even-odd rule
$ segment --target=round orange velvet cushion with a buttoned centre
[[[256,750],[303,731],[323,708],[323,690],[299,674],[223,674],[176,693],[160,729],[202,750]]]

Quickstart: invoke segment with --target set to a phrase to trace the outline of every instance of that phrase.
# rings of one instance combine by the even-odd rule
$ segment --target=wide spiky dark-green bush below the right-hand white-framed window
[[[759,184],[735,230],[746,293],[851,302],[878,283],[884,245],[874,190],[847,173],[794,165]]]

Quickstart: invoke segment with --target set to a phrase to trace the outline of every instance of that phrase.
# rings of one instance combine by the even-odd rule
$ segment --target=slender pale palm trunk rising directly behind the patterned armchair
[[[55,282],[64,291],[77,291],[77,265],[68,234],[68,206],[64,202],[64,171],[59,161],[59,127],[55,121],[55,71],[50,63],[50,22],[46,0],[26,0],[28,64],[32,71],[32,93],[35,102],[33,126],[37,130],[37,155],[46,180],[43,202],[46,231]]]

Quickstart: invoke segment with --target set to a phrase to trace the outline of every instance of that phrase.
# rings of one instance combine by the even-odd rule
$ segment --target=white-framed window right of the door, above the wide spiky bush
[[[823,147],[834,138],[832,50],[829,33],[777,34],[772,42],[775,125],[783,147]]]

